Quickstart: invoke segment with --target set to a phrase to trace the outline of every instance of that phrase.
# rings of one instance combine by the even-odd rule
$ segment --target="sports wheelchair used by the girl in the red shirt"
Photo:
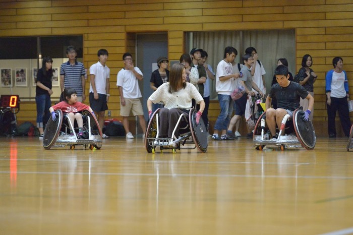
[[[71,123],[70,119],[63,116],[62,110],[57,109],[55,113],[57,115],[56,121],[54,122],[50,118],[44,130],[44,149],[65,147],[67,145],[70,146],[71,150],[75,149],[75,145],[83,145],[85,148],[89,146],[91,150],[93,150],[93,148],[100,149],[102,147],[102,132],[97,119],[88,109],[82,111],[84,131],[81,139],[79,139],[76,134],[70,135],[70,127],[72,130],[77,130],[78,128],[75,128],[75,124]]]

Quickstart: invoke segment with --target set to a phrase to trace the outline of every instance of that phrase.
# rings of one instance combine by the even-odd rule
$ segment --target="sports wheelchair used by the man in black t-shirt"
[[[277,146],[281,150],[304,147],[313,150],[316,144],[316,135],[310,120],[303,120],[304,112],[296,109],[293,118],[286,114],[282,120],[277,139],[271,139],[266,125],[266,112],[258,119],[253,134],[253,143],[256,150],[263,150],[266,145]]]

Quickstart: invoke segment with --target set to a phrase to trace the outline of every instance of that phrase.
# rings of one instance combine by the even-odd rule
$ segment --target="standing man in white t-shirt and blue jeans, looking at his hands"
[[[218,102],[220,113],[214,125],[213,140],[233,140],[232,136],[226,135],[231,113],[233,112],[233,100],[230,97],[233,91],[233,81],[239,78],[240,74],[234,74],[232,70],[232,62],[236,58],[238,51],[232,46],[224,49],[223,60],[217,65],[216,72],[216,91],[218,93]],[[221,137],[219,137],[221,134]]]

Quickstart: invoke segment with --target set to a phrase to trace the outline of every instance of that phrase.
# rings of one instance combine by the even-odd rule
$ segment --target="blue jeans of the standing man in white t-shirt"
[[[217,131],[227,130],[231,114],[233,112],[233,100],[230,95],[218,94],[218,102],[220,107],[220,113],[214,125],[214,129]]]

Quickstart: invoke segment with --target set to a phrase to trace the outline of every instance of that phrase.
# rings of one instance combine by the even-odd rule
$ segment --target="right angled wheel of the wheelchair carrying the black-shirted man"
[[[313,150],[316,144],[316,135],[310,120],[303,120],[304,112],[296,109],[293,112],[293,126],[301,145],[307,150]]]

